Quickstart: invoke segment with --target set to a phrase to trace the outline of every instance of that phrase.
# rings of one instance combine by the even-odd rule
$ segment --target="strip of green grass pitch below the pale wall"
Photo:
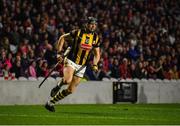
[[[63,104],[55,113],[41,105],[0,106],[0,124],[180,124],[180,104]]]

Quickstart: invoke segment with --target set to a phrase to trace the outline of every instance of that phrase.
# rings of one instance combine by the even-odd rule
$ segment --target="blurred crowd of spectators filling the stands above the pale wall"
[[[94,16],[102,57],[87,78],[179,79],[179,7],[177,0],[0,0],[0,76],[46,76],[59,36]]]

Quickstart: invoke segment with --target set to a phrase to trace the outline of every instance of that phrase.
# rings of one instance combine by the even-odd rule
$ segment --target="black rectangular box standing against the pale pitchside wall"
[[[137,102],[137,82],[113,82],[113,104],[117,102]]]

